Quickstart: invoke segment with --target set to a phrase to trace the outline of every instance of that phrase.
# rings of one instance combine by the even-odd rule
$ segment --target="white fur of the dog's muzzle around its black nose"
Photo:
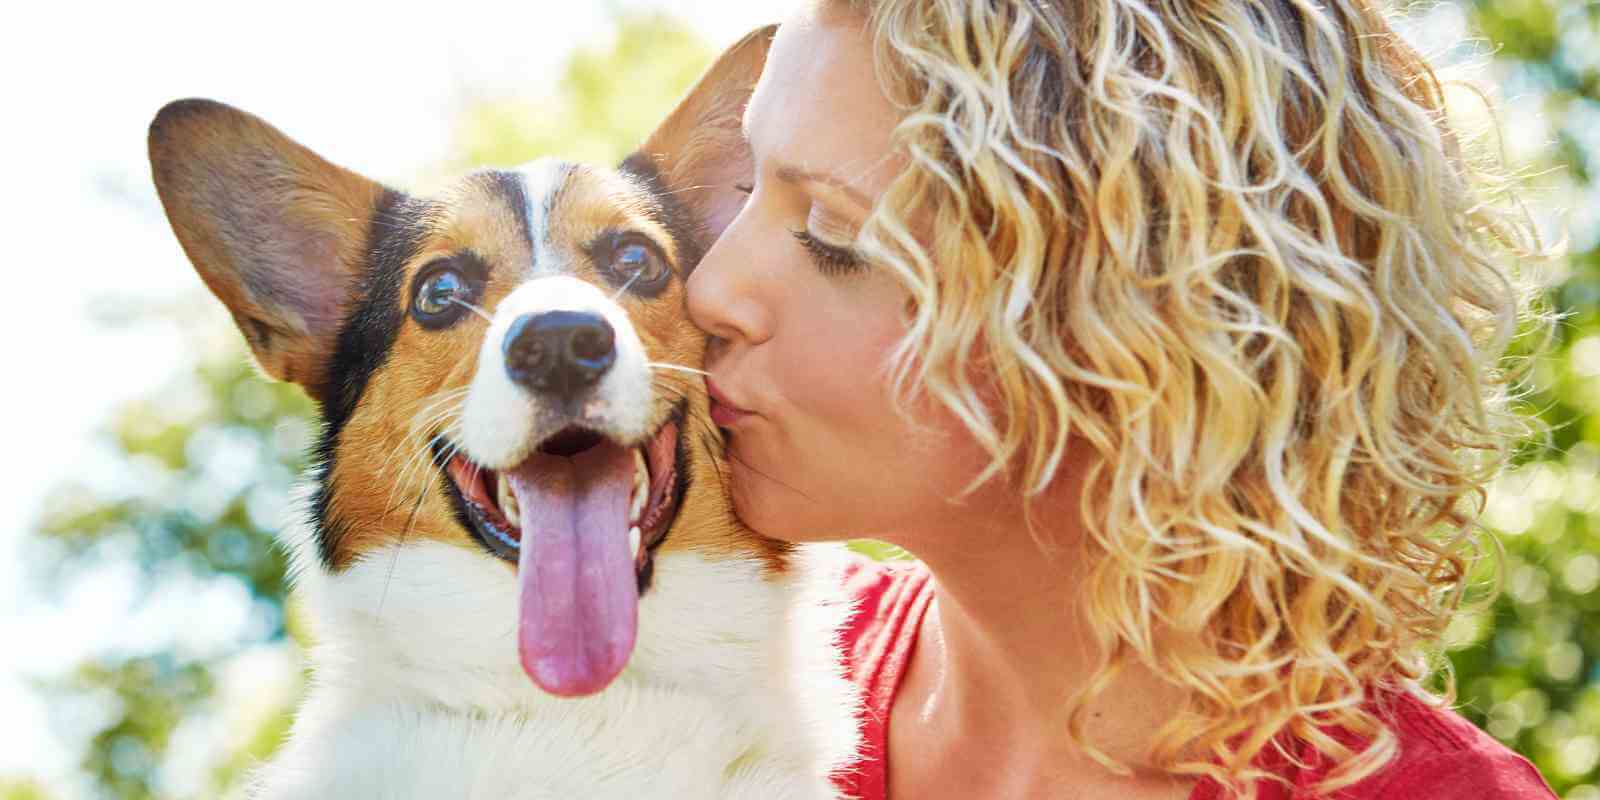
[[[514,382],[506,371],[504,341],[510,325],[523,315],[552,310],[595,314],[614,333],[616,362],[589,392],[582,419],[563,416],[557,403]],[[648,435],[651,400],[645,344],[611,293],[571,275],[536,277],[517,286],[494,309],[461,414],[461,446],[477,464],[510,469],[526,459],[539,442],[571,422],[618,442],[640,442]]]

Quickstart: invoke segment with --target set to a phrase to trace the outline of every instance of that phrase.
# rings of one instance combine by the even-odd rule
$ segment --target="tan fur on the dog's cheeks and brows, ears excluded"
[[[621,229],[650,235],[669,256],[678,248],[667,232],[654,224],[637,202],[624,202],[627,194],[614,173],[574,170],[560,192],[560,203],[549,219],[549,250],[562,264],[552,266],[578,278],[605,286],[584,256],[586,245],[605,230]],[[475,178],[466,178],[445,192],[450,206],[438,216],[437,227],[406,266],[405,286],[418,270],[432,261],[470,250],[490,264],[490,280],[480,306],[493,310],[526,270],[531,254],[522,238],[510,208],[498,195],[483,192]],[[674,264],[682,275],[682,266]],[[410,293],[402,293],[406,301]],[[659,298],[642,301],[622,294],[640,339],[651,360],[699,368],[704,362],[704,334],[683,314],[683,283],[675,280]],[[446,427],[448,419],[424,429],[413,424],[430,405],[450,392],[467,387],[475,370],[475,354],[485,322],[469,317],[445,331],[424,331],[414,325],[402,328],[387,365],[366,386],[362,402],[346,424],[339,442],[339,459],[330,475],[338,491],[330,501],[330,517],[346,526],[334,547],[334,568],[344,570],[362,554],[374,552],[395,538],[426,538],[477,550],[478,544],[456,523],[442,486],[443,477],[430,466],[418,466],[427,458],[427,442]],[[726,467],[720,458],[720,442],[710,410],[694,374],[661,371],[656,384],[667,394],[685,397],[688,414],[685,435],[694,450],[691,490],[678,510],[664,552],[696,549],[723,555],[754,555],[781,571],[787,549],[773,539],[744,530],[733,517],[723,490]],[[653,427],[666,421],[674,397],[656,403]],[[459,403],[456,403],[459,405]],[[397,488],[397,482],[398,483]],[[512,568],[512,565],[507,565]]]

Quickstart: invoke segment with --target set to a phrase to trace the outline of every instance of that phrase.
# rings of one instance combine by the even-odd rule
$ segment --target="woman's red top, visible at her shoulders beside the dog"
[[[856,598],[856,610],[845,622],[845,669],[861,688],[861,760],[840,773],[840,790],[853,800],[886,800],[888,771],[885,746],[890,709],[899,691],[901,675],[922,616],[933,600],[928,570],[915,563],[880,565],[866,558],[850,565],[845,590]],[[1390,723],[1400,738],[1400,755],[1378,774],[1339,792],[1339,800],[1555,800],[1526,758],[1494,741],[1459,714],[1435,709],[1405,693],[1386,693]],[[1346,744],[1355,739],[1331,731]],[[1326,765],[1309,747],[1298,749],[1296,758],[1309,766],[1296,768],[1282,755],[1269,770],[1288,781],[1288,787],[1264,781],[1261,800],[1312,800],[1309,787],[1325,774]],[[1269,750],[1270,752],[1270,750]],[[1264,757],[1266,762],[1266,757]],[[1293,789],[1290,789],[1293,787]],[[1202,779],[1189,800],[1222,800],[1222,787]]]

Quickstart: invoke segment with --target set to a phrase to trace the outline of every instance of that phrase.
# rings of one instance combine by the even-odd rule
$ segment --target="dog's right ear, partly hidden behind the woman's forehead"
[[[622,171],[656,176],[659,189],[688,206],[694,245],[706,251],[739,213],[754,168],[741,122],[778,26],[752,30],[730,46],[672,114],[622,162]]]

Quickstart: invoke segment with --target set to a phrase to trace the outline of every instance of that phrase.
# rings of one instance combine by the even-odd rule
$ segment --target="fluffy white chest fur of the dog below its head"
[[[307,546],[294,542],[312,691],[254,798],[837,797],[856,699],[821,554],[776,579],[757,562],[662,554],[627,669],[557,699],[517,664],[504,565],[411,542],[334,576]]]

